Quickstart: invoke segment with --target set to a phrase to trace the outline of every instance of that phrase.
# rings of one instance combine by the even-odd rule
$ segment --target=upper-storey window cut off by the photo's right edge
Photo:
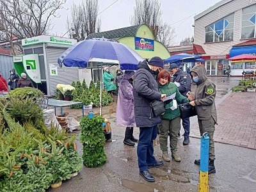
[[[243,8],[241,39],[255,38],[256,4]]]

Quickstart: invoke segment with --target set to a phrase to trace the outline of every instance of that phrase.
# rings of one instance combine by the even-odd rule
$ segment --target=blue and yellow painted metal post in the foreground
[[[199,192],[208,192],[208,166],[209,166],[209,136],[205,132],[201,136],[201,147],[200,147],[200,172],[199,172]]]

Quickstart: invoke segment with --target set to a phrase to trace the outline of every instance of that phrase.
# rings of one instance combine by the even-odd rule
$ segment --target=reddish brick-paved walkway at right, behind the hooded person
[[[218,125],[214,141],[256,149],[256,93],[230,93],[217,106]],[[198,124],[190,136],[200,138]]]

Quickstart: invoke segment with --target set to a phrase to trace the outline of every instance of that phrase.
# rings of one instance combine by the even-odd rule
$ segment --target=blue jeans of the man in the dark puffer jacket
[[[140,127],[137,155],[140,172],[147,171],[148,165],[157,163],[154,157],[153,140],[157,136],[157,125],[154,127]]]

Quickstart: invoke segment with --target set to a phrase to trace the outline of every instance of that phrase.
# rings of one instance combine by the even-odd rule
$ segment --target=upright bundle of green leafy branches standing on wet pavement
[[[102,132],[102,116],[88,116],[80,122],[80,141],[83,143],[83,163],[87,167],[98,167],[105,164],[107,156],[104,152],[105,137]]]

